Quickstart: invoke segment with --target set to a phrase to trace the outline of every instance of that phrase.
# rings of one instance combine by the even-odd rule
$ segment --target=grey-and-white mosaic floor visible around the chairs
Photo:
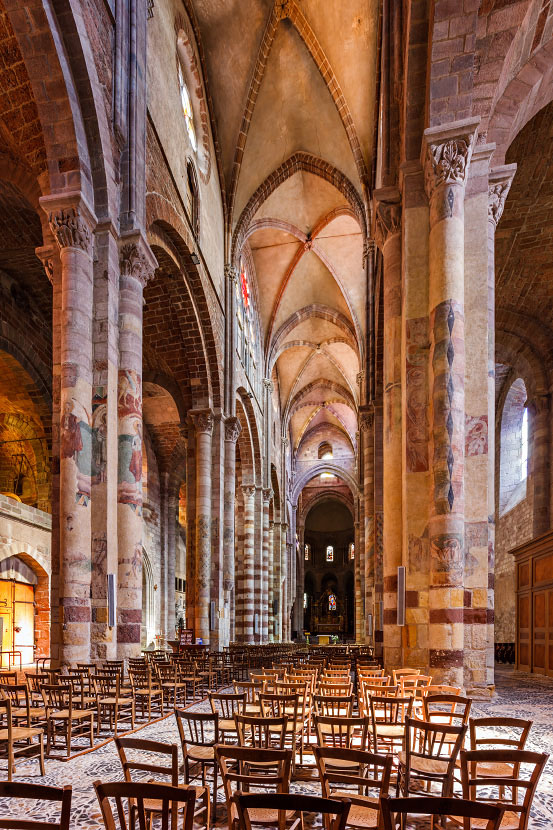
[[[553,680],[515,675],[511,669],[498,667],[496,673],[497,694],[493,701],[476,702],[472,712],[476,716],[504,715],[532,718],[534,725],[530,732],[527,748],[539,752],[551,752],[553,756]],[[197,704],[204,708],[205,704]],[[179,743],[173,716],[165,720],[150,723],[138,733],[140,737],[151,738],[167,743]],[[0,767],[0,777],[5,779],[5,771]],[[62,786],[71,784],[73,802],[71,826],[96,830],[103,828],[92,782],[120,780],[121,766],[112,741],[100,745],[86,754],[78,755],[70,761],[49,759],[46,761],[46,776],[42,778],[38,761],[29,760],[19,763],[17,781],[51,784]],[[309,781],[298,781],[292,785],[294,791],[318,794],[319,788]],[[222,800],[222,792],[219,793]],[[0,818],[16,815],[16,805],[7,799],[0,799]],[[36,804],[30,811],[34,818],[45,820],[47,812],[44,805]],[[218,809],[217,824],[226,826],[224,807]],[[530,820],[530,828],[553,828],[553,759],[547,764],[536,795]]]

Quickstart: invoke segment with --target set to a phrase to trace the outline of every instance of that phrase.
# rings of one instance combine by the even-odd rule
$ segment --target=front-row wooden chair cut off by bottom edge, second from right
[[[233,796],[236,811],[236,827],[251,830],[252,824],[263,824],[282,828],[284,820],[299,813],[290,830],[301,827],[303,830],[303,813],[321,813],[323,823],[328,830],[345,830],[350,802],[347,799],[320,798],[316,795],[291,795],[290,793],[236,793]],[[331,821],[330,817],[335,816]],[[229,830],[233,826],[229,824]]]

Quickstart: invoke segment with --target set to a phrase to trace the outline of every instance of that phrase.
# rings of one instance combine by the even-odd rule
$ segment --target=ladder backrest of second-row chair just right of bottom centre
[[[388,792],[392,755],[323,746],[313,747],[313,752],[325,798],[332,798],[333,784],[340,785],[340,791],[344,785],[355,787],[359,795],[373,798]]]

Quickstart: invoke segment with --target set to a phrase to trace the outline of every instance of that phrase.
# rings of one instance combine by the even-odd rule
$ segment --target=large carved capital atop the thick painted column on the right
[[[465,118],[424,131],[421,162],[429,200],[441,187],[464,188],[479,122],[479,118]]]

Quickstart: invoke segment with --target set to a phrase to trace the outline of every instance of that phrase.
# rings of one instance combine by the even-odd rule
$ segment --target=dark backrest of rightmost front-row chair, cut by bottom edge
[[[411,798],[380,797],[380,814],[383,830],[396,830],[397,816],[460,816],[480,819],[486,825],[480,830],[499,830],[503,810],[490,804],[479,804],[464,798],[440,798],[436,796],[413,796]],[[404,823],[402,822],[402,826]]]

